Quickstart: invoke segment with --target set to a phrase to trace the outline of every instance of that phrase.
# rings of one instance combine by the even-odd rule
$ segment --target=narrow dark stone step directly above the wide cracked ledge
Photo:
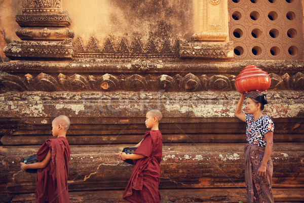
[[[142,130],[143,131],[143,130]],[[144,131],[143,131],[144,132]],[[3,136],[3,145],[39,145],[52,139],[46,135],[14,134]],[[142,134],[100,134],[100,135],[73,135],[68,134],[70,145],[107,145],[111,144],[137,144],[142,139]],[[163,143],[244,143],[246,135],[232,133],[163,133]],[[274,133],[275,143],[304,143],[302,133]]]

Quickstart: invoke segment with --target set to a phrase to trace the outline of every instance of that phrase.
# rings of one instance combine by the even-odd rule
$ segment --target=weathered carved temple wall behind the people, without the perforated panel
[[[162,202],[246,202],[234,110],[249,64],[271,76],[275,201],[301,202],[304,62],[237,60],[228,1],[0,1],[0,202],[34,202],[35,174],[19,162],[61,114],[70,201],[124,202],[132,166],[117,153],[142,139],[151,108],[164,116]]]

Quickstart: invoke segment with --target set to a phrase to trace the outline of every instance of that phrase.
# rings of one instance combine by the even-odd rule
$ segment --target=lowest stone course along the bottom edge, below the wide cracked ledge
[[[229,189],[161,189],[161,203],[193,203],[193,202],[246,202],[244,188]],[[123,190],[99,190],[86,192],[69,192],[71,203],[124,203]],[[276,202],[292,203],[300,201],[302,191],[299,188],[273,188]],[[10,203],[34,203],[35,194],[20,194],[12,198]],[[92,200],[93,199],[93,200]]]

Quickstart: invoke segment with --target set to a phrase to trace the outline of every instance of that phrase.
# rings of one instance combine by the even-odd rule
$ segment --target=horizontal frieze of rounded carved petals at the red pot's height
[[[270,90],[285,90],[291,87],[293,90],[304,90],[304,74],[297,73],[289,78],[285,74],[279,76],[270,74],[272,85]],[[162,75],[111,75],[102,76],[73,74],[57,76],[40,73],[36,77],[26,74],[24,77],[4,74],[0,78],[0,84],[7,90],[17,91],[233,91],[235,89],[235,75],[194,75],[188,73],[185,76],[179,74],[169,76]],[[283,79],[284,78],[284,79]],[[288,85],[284,81],[289,81]]]

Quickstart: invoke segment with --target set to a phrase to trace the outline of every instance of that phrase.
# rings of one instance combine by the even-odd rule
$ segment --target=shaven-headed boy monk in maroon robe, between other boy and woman
[[[160,202],[160,162],[163,153],[163,138],[159,130],[162,119],[159,110],[146,113],[145,125],[151,130],[146,131],[144,138],[135,147],[133,154],[119,153],[121,160],[133,159],[134,168],[124,192],[123,198],[129,202]]]

